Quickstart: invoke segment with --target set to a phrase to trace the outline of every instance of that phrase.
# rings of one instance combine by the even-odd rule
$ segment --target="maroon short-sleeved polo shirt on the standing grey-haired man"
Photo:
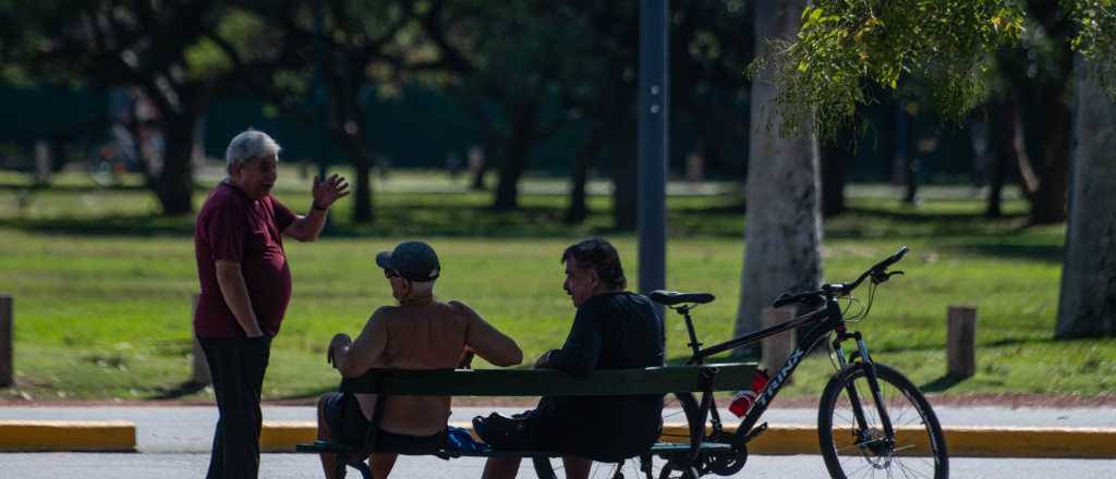
[[[218,260],[240,263],[260,329],[270,336],[279,333],[290,301],[290,267],[282,248],[282,231],[294,221],[295,214],[271,195],[251,199],[229,183],[213,188],[194,227],[202,286],[194,312],[198,336],[244,336],[217,282]]]

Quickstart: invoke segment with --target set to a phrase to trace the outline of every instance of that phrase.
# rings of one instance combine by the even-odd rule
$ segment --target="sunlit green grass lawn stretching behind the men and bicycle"
[[[7,175],[7,176],[4,176]],[[277,196],[305,209],[308,186],[283,177]],[[565,197],[525,189],[523,208],[485,209],[483,193],[407,193],[423,176],[377,180],[377,222],[353,225],[347,202],[335,208],[318,243],[288,242],[295,292],[272,350],[267,399],[309,398],[336,387],[325,346],[338,331],[356,333],[391,301],[373,256],[406,238],[439,251],[437,294],[474,306],[533,359],[559,346],[574,309],[561,291],[562,248],[600,234],[620,248],[637,277],[635,238],[609,229],[610,201],[591,198],[581,225],[561,223]],[[183,390],[191,365],[190,297],[198,289],[192,218],[162,218],[142,189],[97,189],[68,178],[30,195],[0,174],[0,292],[16,301],[18,387],[0,398],[205,399]],[[538,184],[541,184],[538,183]],[[7,185],[7,186],[4,186]],[[545,188],[540,188],[545,189]],[[200,188],[196,201],[204,198]],[[845,281],[908,245],[905,276],[882,286],[866,334],[876,360],[906,372],[930,392],[1116,394],[1116,341],[1055,342],[1062,227],[1024,227],[1023,203],[984,219],[979,199],[934,195],[918,208],[897,205],[887,188],[850,190],[852,209],[826,224],[825,277]],[[672,197],[667,284],[714,293],[696,311],[702,341],[729,339],[740,297],[743,213],[731,194]],[[866,297],[865,297],[866,299]],[[977,375],[945,372],[945,312],[978,307]],[[685,353],[681,319],[667,317],[672,359]],[[817,395],[831,365],[804,362],[785,394]]]

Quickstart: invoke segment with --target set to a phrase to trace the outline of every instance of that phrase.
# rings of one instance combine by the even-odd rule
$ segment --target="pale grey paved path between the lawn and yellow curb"
[[[451,421],[469,421],[488,414],[492,408],[454,408]],[[498,409],[504,413],[521,409]],[[935,407],[944,428],[951,426],[1041,427],[1041,428],[1116,428],[1114,409],[1033,409],[990,407]],[[681,421],[681,414],[679,414]],[[733,418],[722,411],[722,418]],[[136,446],[141,452],[208,452],[217,422],[217,408],[187,407],[0,407],[0,420],[105,420],[125,419],[136,424]],[[315,421],[312,407],[263,408],[264,421]],[[764,421],[778,424],[814,426],[814,409],[772,409]],[[728,421],[727,422],[733,422]]]

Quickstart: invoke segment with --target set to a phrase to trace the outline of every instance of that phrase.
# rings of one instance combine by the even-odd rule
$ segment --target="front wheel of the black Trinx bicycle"
[[[926,398],[901,372],[874,365],[879,403],[872,394],[864,363],[849,364],[835,374],[821,394],[818,440],[829,476],[947,478],[945,437]],[[893,437],[887,437],[882,413],[891,418]]]

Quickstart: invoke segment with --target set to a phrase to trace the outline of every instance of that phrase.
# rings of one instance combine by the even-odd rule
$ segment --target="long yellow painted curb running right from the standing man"
[[[450,426],[472,431],[469,422]],[[734,431],[735,426],[727,426],[725,430]],[[915,453],[925,453],[930,446],[920,432],[918,428],[899,428],[898,440],[913,444]],[[1112,428],[950,427],[944,433],[951,457],[1116,458],[1116,429]],[[295,444],[314,442],[316,437],[312,421],[264,421],[260,449],[291,452]],[[685,426],[666,424],[661,440],[685,442],[687,438]],[[845,441],[838,438],[838,447],[850,442],[850,437]],[[748,452],[754,454],[816,454],[819,449],[817,428],[798,424],[771,424],[748,444]]]

